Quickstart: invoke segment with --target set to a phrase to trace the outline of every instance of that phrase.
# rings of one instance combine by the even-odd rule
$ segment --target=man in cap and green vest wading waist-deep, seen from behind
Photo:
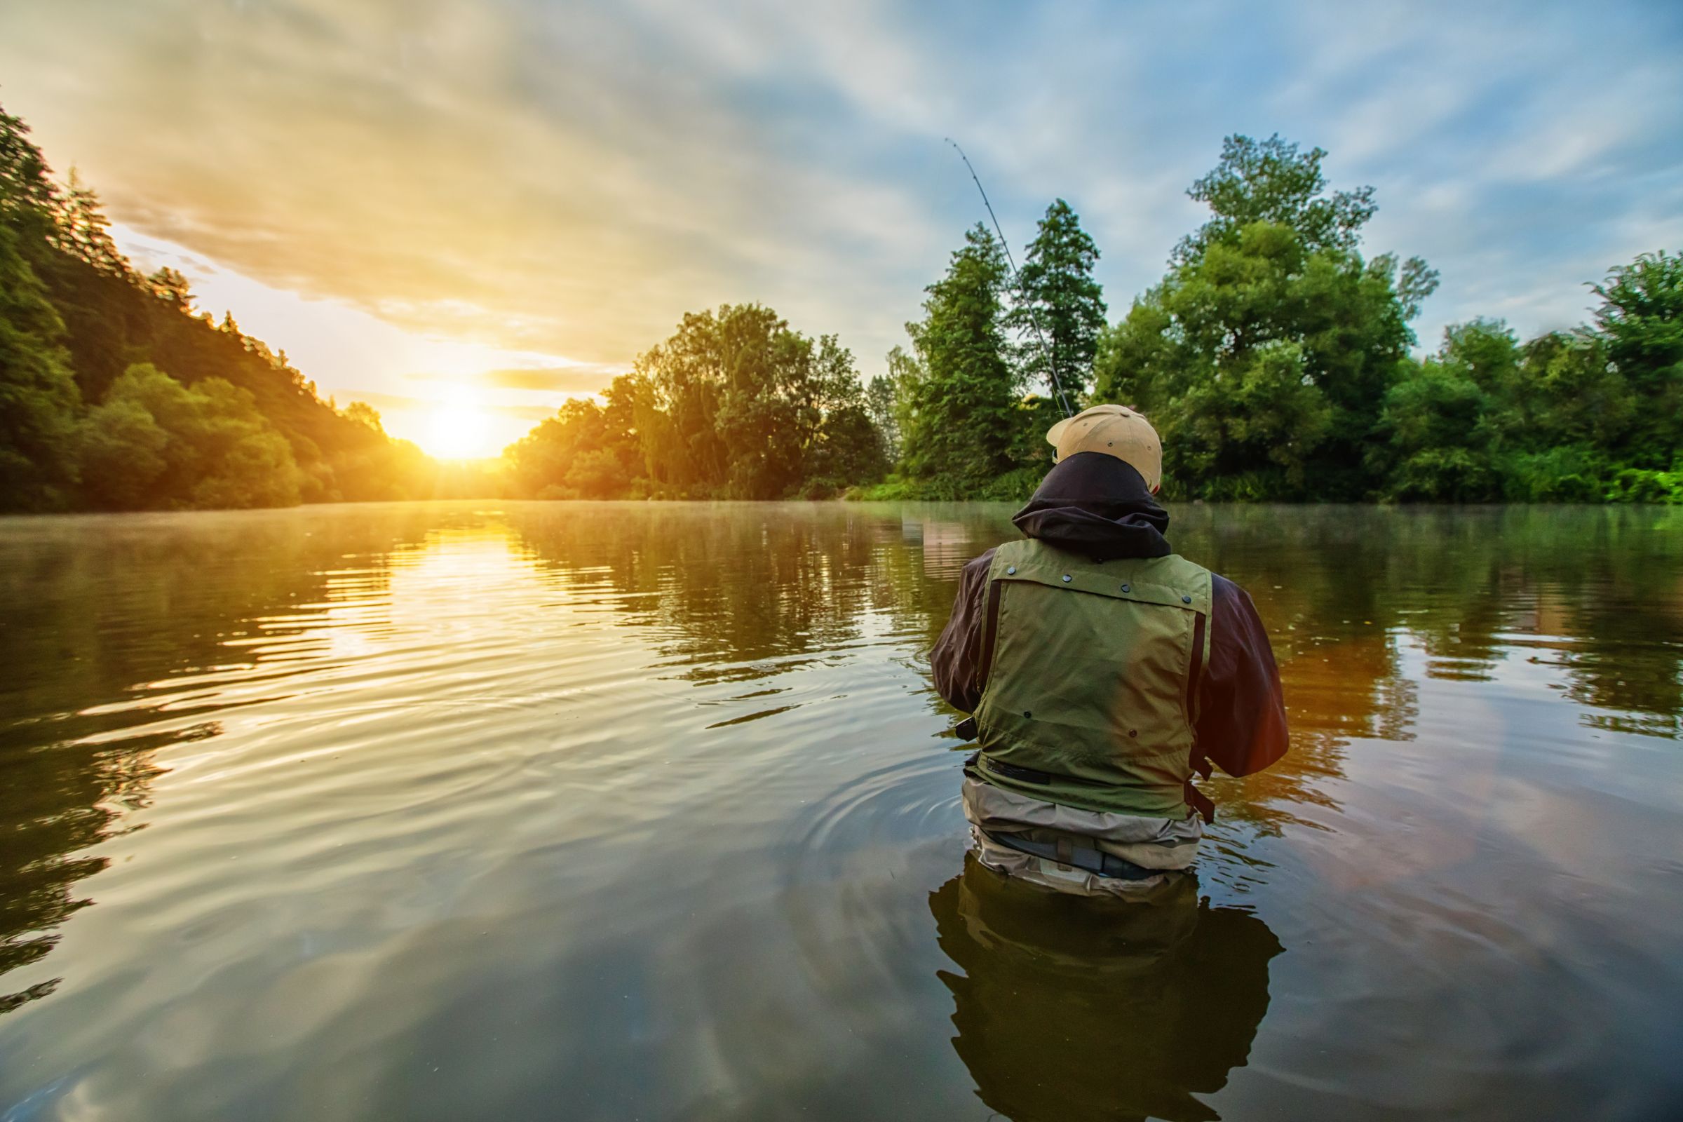
[[[1210,764],[1286,754],[1267,632],[1244,589],[1170,550],[1156,431],[1094,405],[1047,432],[1057,464],[964,565],[929,658],[973,713],[964,818],[983,865],[1060,892],[1136,895],[1198,855]],[[1200,821],[1202,819],[1202,821]]]

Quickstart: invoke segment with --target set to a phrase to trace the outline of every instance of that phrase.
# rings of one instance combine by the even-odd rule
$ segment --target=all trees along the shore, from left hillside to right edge
[[[1050,466],[1054,367],[1077,407],[1153,421],[1170,500],[1683,503],[1683,257],[1614,266],[1577,330],[1473,320],[1415,355],[1437,274],[1362,254],[1373,190],[1330,190],[1325,155],[1227,138],[1188,190],[1210,219],[1114,321],[1060,198],[1015,283],[968,230],[868,382],[836,336],[725,304],[483,466],[323,400],[284,350],[194,311],[180,273],[140,274],[0,111],[0,511],[1022,500]]]

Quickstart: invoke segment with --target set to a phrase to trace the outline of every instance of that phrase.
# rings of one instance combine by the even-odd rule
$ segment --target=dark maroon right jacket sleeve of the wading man
[[[1213,594],[1198,752],[1229,775],[1249,775],[1286,755],[1286,698],[1256,604],[1227,577],[1215,577]]]

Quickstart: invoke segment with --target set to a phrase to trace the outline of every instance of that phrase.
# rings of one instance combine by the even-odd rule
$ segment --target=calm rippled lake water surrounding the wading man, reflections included
[[[1683,1117],[1683,510],[1173,511],[1293,752],[966,855],[1003,506],[0,520],[0,1120]]]

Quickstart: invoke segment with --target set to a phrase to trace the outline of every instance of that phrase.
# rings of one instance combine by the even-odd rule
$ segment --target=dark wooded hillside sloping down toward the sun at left
[[[340,412],[232,318],[141,276],[93,190],[54,182],[0,111],[0,510],[182,510],[417,498],[431,461]]]

